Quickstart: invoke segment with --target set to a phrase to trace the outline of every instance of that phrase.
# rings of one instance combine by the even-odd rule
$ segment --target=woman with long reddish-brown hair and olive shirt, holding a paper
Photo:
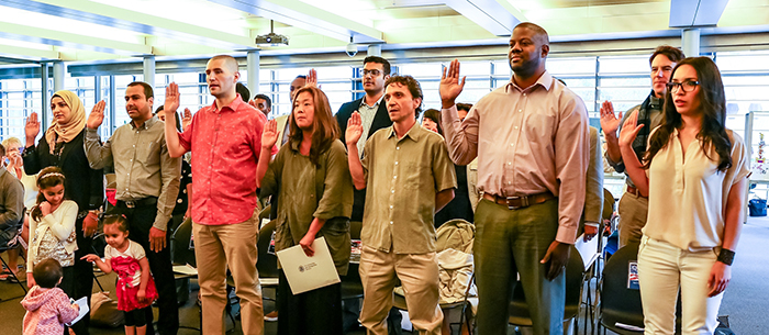
[[[297,92],[289,129],[289,141],[269,163],[279,131],[275,120],[267,123],[257,167],[259,196],[277,197],[279,203],[275,248],[301,245],[312,257],[313,241],[323,236],[336,271],[344,276],[350,254],[353,180],[323,91],[304,87]],[[282,270],[278,282],[278,334],[343,333],[341,283],[294,295]]]

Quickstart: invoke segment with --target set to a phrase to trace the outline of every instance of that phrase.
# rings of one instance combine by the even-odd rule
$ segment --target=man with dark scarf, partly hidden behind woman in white
[[[660,45],[649,57],[649,65],[651,65],[651,92],[646,100],[642,104],[629,109],[624,115],[622,112],[618,115],[614,115],[614,107],[611,101],[604,101],[601,105],[601,129],[603,129],[603,134],[606,138],[605,158],[606,163],[615,171],[620,174],[625,172],[625,165],[622,161],[617,139],[620,126],[634,111],[638,111],[638,124],[644,124],[644,127],[640,129],[638,136],[633,142],[633,149],[638,159],[642,159],[646,153],[649,132],[662,122],[662,104],[665,103],[665,93],[667,92],[667,85],[670,81],[672,69],[683,58],[683,53],[680,49],[669,45]],[[644,194],[636,189],[631,178],[625,178],[625,193],[617,205],[620,212],[620,247],[629,243],[640,242],[640,236],[643,235],[640,230],[646,225],[646,212],[648,210],[648,194]]]

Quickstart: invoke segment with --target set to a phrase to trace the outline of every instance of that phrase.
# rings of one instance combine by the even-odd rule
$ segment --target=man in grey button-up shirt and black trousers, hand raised
[[[114,166],[116,208],[129,220],[131,239],[147,250],[159,295],[157,331],[166,335],[179,330],[168,222],[179,192],[181,159],[168,155],[164,123],[153,116],[153,101],[152,86],[141,81],[129,83],[125,111],[131,122],[115,130],[104,145],[98,131],[104,121],[104,109],[98,104],[101,108],[94,108],[88,116],[85,148],[92,169]],[[146,314],[152,321],[153,310],[146,309]],[[152,322],[148,325],[149,331]]]

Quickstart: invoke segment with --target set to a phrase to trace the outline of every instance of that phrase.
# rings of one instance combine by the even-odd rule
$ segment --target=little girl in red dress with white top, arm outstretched
[[[147,331],[144,309],[151,308],[157,299],[144,248],[129,239],[129,222],[124,215],[104,217],[104,261],[92,254],[82,259],[96,263],[104,273],[118,272],[118,310],[125,314],[125,334],[144,335]]]

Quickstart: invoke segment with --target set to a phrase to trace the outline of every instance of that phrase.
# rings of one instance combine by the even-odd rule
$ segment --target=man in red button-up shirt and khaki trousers
[[[192,234],[203,302],[203,334],[224,334],[227,267],[241,298],[243,333],[264,333],[261,290],[256,271],[256,166],[267,119],[235,92],[237,62],[212,57],[205,77],[214,103],[200,109],[178,133],[166,123],[171,157],[192,152]],[[179,108],[179,87],[166,88],[165,111]],[[253,182],[247,182],[247,181]]]

